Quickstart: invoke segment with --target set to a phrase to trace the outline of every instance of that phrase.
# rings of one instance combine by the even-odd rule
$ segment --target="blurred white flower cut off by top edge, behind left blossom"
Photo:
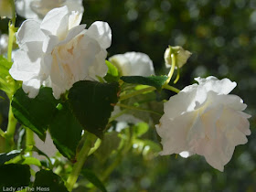
[[[42,21],[51,9],[64,5],[69,12],[83,13],[82,0],[16,0],[16,12],[19,16]]]

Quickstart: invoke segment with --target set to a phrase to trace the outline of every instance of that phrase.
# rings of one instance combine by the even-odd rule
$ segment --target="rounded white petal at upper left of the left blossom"
[[[16,33],[16,41],[21,48],[24,43],[44,41],[45,37],[44,33],[40,30],[40,23],[29,19],[23,22]]]

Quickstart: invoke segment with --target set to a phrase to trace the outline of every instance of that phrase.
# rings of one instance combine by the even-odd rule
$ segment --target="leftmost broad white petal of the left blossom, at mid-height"
[[[31,60],[24,50],[14,53],[14,64],[9,70],[15,80],[30,80],[37,77],[40,72],[41,59]]]

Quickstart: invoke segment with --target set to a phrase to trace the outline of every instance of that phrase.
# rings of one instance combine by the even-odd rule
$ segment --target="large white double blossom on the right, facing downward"
[[[229,94],[236,82],[215,77],[197,78],[165,102],[165,114],[156,125],[162,138],[161,155],[205,156],[209,165],[223,171],[235,146],[246,144],[251,115],[237,95]]]

